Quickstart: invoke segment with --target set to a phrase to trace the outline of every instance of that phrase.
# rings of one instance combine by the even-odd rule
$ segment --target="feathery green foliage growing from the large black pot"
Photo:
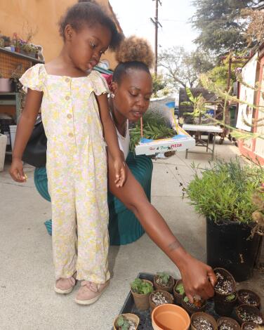
[[[217,160],[206,169],[192,167],[194,179],[186,192],[197,213],[215,223],[254,223],[252,213],[258,208],[252,195],[264,182],[261,166],[241,164],[237,157],[228,162]]]

